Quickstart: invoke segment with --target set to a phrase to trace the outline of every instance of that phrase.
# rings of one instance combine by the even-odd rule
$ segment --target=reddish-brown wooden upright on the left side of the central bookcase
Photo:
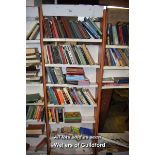
[[[42,76],[43,76],[43,91],[44,91],[44,107],[45,107],[45,122],[46,122],[46,135],[47,135],[47,155],[50,155],[50,127],[48,119],[48,106],[47,106],[47,93],[46,93],[46,74],[45,74],[45,60],[44,60],[44,46],[43,46],[43,12],[42,5],[38,7],[39,23],[40,23],[40,45],[41,45],[41,58],[42,58]]]

